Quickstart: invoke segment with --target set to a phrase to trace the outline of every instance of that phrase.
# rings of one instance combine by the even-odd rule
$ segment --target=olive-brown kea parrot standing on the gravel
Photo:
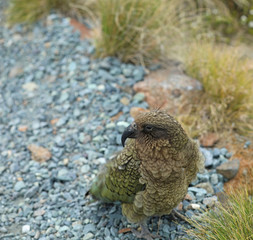
[[[88,195],[121,202],[123,215],[141,227],[132,232],[151,240],[147,219],[172,212],[203,169],[204,158],[198,143],[164,110],[140,113],[121,141],[124,148],[102,167]]]

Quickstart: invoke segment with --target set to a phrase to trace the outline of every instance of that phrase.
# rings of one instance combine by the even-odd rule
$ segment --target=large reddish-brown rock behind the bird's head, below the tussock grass
[[[183,74],[177,68],[150,73],[144,81],[134,85],[136,92],[143,92],[151,108],[166,108],[175,115],[190,94],[200,91],[199,81]]]

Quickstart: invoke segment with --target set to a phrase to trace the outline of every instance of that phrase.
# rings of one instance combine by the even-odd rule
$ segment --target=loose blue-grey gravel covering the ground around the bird
[[[130,109],[148,107],[142,93],[129,91],[145,71],[116,58],[94,59],[94,51],[60,15],[29,30],[0,25],[0,239],[135,239],[118,233],[137,227],[120,204],[90,203],[84,195],[99,166],[122,149]],[[30,144],[50,151],[50,159],[32,159]],[[216,166],[232,156],[225,148],[201,151],[207,170],[192,182],[191,200],[183,201],[189,217],[215,204],[207,185],[198,184],[222,191],[225,179]],[[154,233],[158,220],[148,220]],[[159,234],[180,239],[183,226],[190,227],[163,216]]]

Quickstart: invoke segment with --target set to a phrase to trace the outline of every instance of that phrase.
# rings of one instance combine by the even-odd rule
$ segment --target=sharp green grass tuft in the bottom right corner
[[[204,213],[200,220],[190,220],[195,229],[187,231],[198,240],[252,240],[253,200],[247,189],[233,192],[225,206]]]

